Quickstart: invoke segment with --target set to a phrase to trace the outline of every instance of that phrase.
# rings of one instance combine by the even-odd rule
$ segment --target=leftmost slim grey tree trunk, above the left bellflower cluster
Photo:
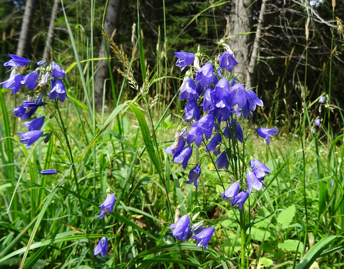
[[[26,0],[25,5],[25,11],[23,16],[23,22],[22,27],[20,30],[20,36],[18,41],[18,47],[17,47],[17,55],[24,57],[25,56],[25,49],[26,45],[29,41],[30,36],[30,28],[31,28],[31,21],[32,21],[32,15],[35,9],[36,0]]]

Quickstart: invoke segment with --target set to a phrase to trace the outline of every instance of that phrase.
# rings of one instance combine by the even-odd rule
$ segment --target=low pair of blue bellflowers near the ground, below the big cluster
[[[203,225],[203,221],[191,226],[189,215],[183,215],[169,229],[173,229],[170,234],[173,234],[175,239],[182,240],[185,242],[186,239],[196,239],[196,246],[207,249],[209,240],[212,238],[215,229],[210,226],[206,227]]]

